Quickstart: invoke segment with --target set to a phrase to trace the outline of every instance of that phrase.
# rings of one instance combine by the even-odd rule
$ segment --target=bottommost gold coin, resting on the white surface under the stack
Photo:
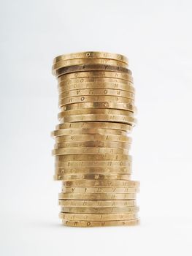
[[[89,221],[72,221],[62,219],[62,224],[69,227],[110,227],[110,226],[134,226],[139,225],[139,219],[89,222]]]

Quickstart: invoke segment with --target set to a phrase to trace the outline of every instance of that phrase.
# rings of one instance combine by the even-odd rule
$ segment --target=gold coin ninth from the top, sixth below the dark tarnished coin
[[[88,108],[99,108],[99,109],[116,109],[116,110],[127,110],[133,113],[137,113],[137,108],[133,104],[116,103],[116,102],[84,102],[64,105],[61,107],[62,111],[66,110],[82,110]]]

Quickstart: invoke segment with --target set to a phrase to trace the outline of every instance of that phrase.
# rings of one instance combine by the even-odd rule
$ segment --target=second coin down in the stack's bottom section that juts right
[[[126,193],[137,193],[138,188],[134,187],[62,187],[62,193],[116,193],[116,194],[126,194]]]

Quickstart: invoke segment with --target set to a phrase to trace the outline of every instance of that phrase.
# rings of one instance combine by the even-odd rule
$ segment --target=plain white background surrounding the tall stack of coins
[[[0,254],[191,255],[191,1],[2,1]],[[128,56],[141,226],[63,227],[51,157],[53,57]]]

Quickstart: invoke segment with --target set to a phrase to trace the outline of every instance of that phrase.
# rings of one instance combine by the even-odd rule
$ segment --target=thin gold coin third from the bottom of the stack
[[[75,194],[73,194],[75,195]],[[98,195],[98,194],[96,194]],[[120,195],[120,194],[118,194]],[[131,195],[131,194],[126,194]],[[134,194],[133,194],[134,195]],[[94,195],[93,195],[94,196]],[[122,207],[65,207],[61,206],[61,212],[72,214],[136,214],[139,211],[137,206]]]

